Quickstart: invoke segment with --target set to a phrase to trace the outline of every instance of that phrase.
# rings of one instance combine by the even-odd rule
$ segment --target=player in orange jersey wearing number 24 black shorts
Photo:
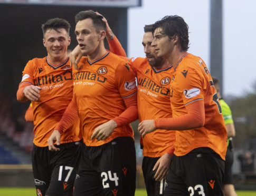
[[[58,150],[65,129],[79,116],[84,151],[74,195],[134,195],[136,156],[130,122],[138,118],[135,75],[129,64],[105,49],[102,16],[75,16],[75,35],[83,55],[73,70],[73,99],[49,139]]]

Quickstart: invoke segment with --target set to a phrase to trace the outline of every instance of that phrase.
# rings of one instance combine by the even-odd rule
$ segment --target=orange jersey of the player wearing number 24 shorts
[[[107,52],[89,62],[81,58],[79,70],[73,70],[73,92],[82,124],[83,142],[99,146],[120,136],[133,137],[131,125],[117,127],[104,141],[91,140],[95,128],[119,116],[126,110],[124,99],[137,96],[135,75],[127,61]],[[137,111],[135,120],[137,117]]]

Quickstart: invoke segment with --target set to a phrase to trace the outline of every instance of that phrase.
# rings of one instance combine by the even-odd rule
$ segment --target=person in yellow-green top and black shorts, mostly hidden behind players
[[[225,172],[224,172],[224,194],[225,196],[236,196],[234,185],[232,184],[232,165],[234,161],[233,154],[233,143],[232,138],[235,136],[235,126],[232,119],[232,112],[230,110],[229,105],[222,99],[220,93],[220,83],[219,80],[215,77],[212,77],[213,84],[217,91],[217,95],[219,97],[221,103],[222,115],[224,117],[226,131],[227,131],[227,150],[225,156]]]

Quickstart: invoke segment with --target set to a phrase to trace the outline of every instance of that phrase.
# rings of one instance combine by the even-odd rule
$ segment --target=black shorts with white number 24
[[[134,140],[120,137],[100,146],[85,146],[74,183],[74,196],[134,195]]]

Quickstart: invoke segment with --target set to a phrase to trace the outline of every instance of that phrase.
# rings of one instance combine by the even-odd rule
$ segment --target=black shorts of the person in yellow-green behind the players
[[[227,146],[225,157],[224,184],[232,184],[232,165],[234,161],[233,151]]]

